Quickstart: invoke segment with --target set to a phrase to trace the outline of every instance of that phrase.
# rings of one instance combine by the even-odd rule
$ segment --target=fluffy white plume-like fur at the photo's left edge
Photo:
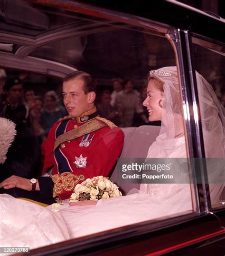
[[[0,164],[6,160],[6,154],[17,134],[16,125],[7,118],[0,118]]]

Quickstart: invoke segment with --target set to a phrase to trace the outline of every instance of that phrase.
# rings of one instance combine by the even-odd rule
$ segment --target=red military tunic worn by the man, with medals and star
[[[88,121],[90,121],[90,119]],[[56,130],[62,122],[61,120],[54,124],[47,139],[43,142],[43,170],[46,171],[49,167],[53,166],[52,174],[54,177],[53,181],[55,182],[55,195],[61,197],[61,199],[66,199],[71,195],[73,188],[77,183],[77,176],[79,175],[83,175],[84,177],[78,182],[98,175],[107,177],[117,158],[120,156],[124,138],[122,130],[120,128],[110,127],[110,124],[112,123],[108,120],[103,119],[101,121],[103,123],[106,122],[109,125],[89,133],[87,138],[89,139],[89,146],[86,144],[87,147],[85,147],[83,145],[84,143],[82,144],[82,141],[84,142],[87,135],[86,137],[81,136],[61,143],[59,150],[68,164],[68,170],[63,170],[63,172],[66,171],[66,173],[62,173],[62,170],[60,170],[60,160],[56,159],[56,156],[53,154],[56,141]],[[85,123],[86,121],[80,122],[80,118],[69,119],[66,123],[65,133],[72,129],[76,129]],[[80,160],[84,160],[84,165],[82,165],[82,161],[80,162]],[[70,174],[72,174],[72,176]],[[66,181],[64,180],[65,176]],[[62,186],[62,182],[64,181],[66,185],[64,184]],[[61,189],[59,193],[56,192],[58,186],[57,182]]]

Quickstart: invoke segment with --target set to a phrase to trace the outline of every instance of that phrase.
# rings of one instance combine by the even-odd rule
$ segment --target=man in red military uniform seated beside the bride
[[[52,176],[27,179],[11,176],[0,183],[0,193],[53,203],[68,198],[86,178],[110,174],[123,147],[122,130],[101,118],[94,106],[92,77],[75,71],[63,80],[63,100],[69,113],[59,119],[43,142],[43,171]]]

